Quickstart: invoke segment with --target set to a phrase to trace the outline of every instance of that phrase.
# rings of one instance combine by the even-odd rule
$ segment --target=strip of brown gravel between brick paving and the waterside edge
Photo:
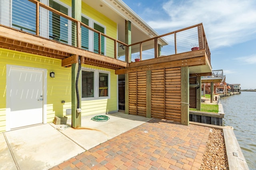
[[[222,129],[210,129],[200,170],[228,170],[228,158]]]

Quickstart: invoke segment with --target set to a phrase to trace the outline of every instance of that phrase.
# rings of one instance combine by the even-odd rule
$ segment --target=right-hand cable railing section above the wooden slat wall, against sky
[[[202,23],[133,43],[128,47],[132,49],[132,61],[138,56],[140,60],[147,60],[193,51],[193,47],[206,49],[210,61],[210,49]]]

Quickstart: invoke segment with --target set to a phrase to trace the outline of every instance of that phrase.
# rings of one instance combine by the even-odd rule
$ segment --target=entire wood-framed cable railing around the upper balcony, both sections
[[[198,46],[206,49],[210,61],[202,23],[127,45],[68,16],[68,8],[59,5],[57,9],[52,0],[49,6],[37,0],[12,0],[10,3],[1,3],[2,25],[86,51],[131,62],[184,53]]]

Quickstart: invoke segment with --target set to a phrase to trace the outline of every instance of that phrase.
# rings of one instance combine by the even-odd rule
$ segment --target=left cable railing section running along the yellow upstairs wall
[[[1,25],[115,59],[125,55],[118,52],[118,46],[126,49],[125,43],[68,16],[65,6],[56,8],[51,0],[49,6],[37,0],[9,2],[1,3]]]

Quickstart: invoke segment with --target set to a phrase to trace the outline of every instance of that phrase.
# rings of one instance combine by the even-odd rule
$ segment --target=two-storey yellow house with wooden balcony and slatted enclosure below
[[[202,23],[158,35],[121,0],[6,2],[0,132],[55,116],[79,127],[81,116],[114,113],[119,103],[128,114],[188,125],[188,104],[200,108],[196,87],[212,73]]]

